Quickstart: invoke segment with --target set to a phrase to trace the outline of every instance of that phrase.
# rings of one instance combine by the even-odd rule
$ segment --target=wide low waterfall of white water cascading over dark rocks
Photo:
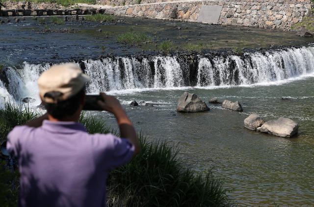
[[[88,93],[143,88],[212,87],[271,84],[314,74],[314,47],[287,48],[242,55],[176,55],[106,57],[77,64],[90,78]],[[49,64],[29,64],[5,70],[0,98],[39,103],[37,78]]]

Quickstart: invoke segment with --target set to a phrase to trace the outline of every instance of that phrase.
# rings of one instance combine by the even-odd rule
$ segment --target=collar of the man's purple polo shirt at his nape
[[[52,122],[44,120],[42,128],[57,133],[75,133],[78,131],[86,132],[85,127],[78,122]]]

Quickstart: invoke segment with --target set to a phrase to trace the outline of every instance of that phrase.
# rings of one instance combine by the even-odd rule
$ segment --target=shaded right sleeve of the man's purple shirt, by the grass
[[[127,139],[113,136],[112,167],[126,164],[134,155],[134,146]]]

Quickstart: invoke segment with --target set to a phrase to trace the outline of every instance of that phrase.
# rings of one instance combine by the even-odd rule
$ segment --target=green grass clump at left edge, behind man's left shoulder
[[[23,125],[37,115],[36,112],[29,109],[28,105],[4,103],[4,108],[0,108],[0,144],[6,141],[7,134],[15,126]]]

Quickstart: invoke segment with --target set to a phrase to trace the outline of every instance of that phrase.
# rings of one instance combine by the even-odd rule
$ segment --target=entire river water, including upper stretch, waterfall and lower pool
[[[153,28],[153,22],[144,21]],[[139,22],[123,19],[122,23],[109,26],[130,26]],[[146,51],[146,56],[138,58],[129,54],[142,49],[127,47],[124,53],[123,46],[114,44],[112,37],[104,41],[109,41],[115,55],[98,58],[102,52],[94,38],[99,34],[85,32],[84,35],[88,33],[86,38],[81,33],[74,33],[70,38],[71,34],[56,33],[51,35],[60,39],[51,40],[48,34],[30,29],[38,26],[35,21],[27,24],[22,29],[13,24],[0,27],[6,32],[4,39],[10,39],[9,34],[17,37],[24,31],[29,43],[27,45],[19,38],[1,42],[0,60],[8,66],[4,72],[6,79],[2,76],[0,81],[1,105],[4,98],[19,102],[25,97],[34,98],[31,105],[38,105],[36,79],[39,75],[54,62],[80,57],[76,62],[92,78],[87,87],[89,93],[106,91],[118,97],[137,130],[142,130],[150,140],[166,139],[177,145],[180,157],[196,171],[212,169],[214,176],[230,189],[228,195],[239,206],[314,204],[314,46],[308,43],[309,39],[284,33],[284,38],[278,38],[278,41],[287,47],[281,49],[253,50],[241,55],[191,54],[188,57]],[[171,25],[175,23],[169,24],[158,22],[161,27],[158,30],[166,34],[178,32]],[[182,28],[195,27],[195,32],[206,27],[177,24]],[[77,23],[66,26],[83,26],[92,31],[105,27]],[[280,37],[275,31],[217,26],[208,26],[200,36],[204,35],[203,41],[209,41],[217,32],[221,32],[219,37],[224,37],[215,46],[218,48],[226,47],[226,39],[232,42],[230,39],[243,38],[232,36],[236,33],[246,38],[258,34],[260,38],[254,43],[246,41],[252,48],[261,47],[265,39],[273,39],[275,43],[275,37]],[[198,41],[199,37],[193,36],[188,38]],[[86,41],[82,41],[84,38]],[[57,43],[57,49],[52,47],[53,42]],[[289,47],[291,44],[299,48]],[[75,48],[73,52],[67,50],[70,46]],[[208,103],[210,111],[207,112],[177,113],[177,101],[184,91],[197,94],[207,103],[211,97],[239,101],[244,111],[233,112],[219,104]],[[288,100],[282,100],[282,97],[288,97]],[[134,100],[155,106],[130,106]],[[299,133],[292,138],[280,138],[245,129],[243,120],[250,113],[258,113],[266,121],[280,116],[291,118],[299,123]],[[93,112],[92,115],[116,127],[112,115],[106,112]]]

